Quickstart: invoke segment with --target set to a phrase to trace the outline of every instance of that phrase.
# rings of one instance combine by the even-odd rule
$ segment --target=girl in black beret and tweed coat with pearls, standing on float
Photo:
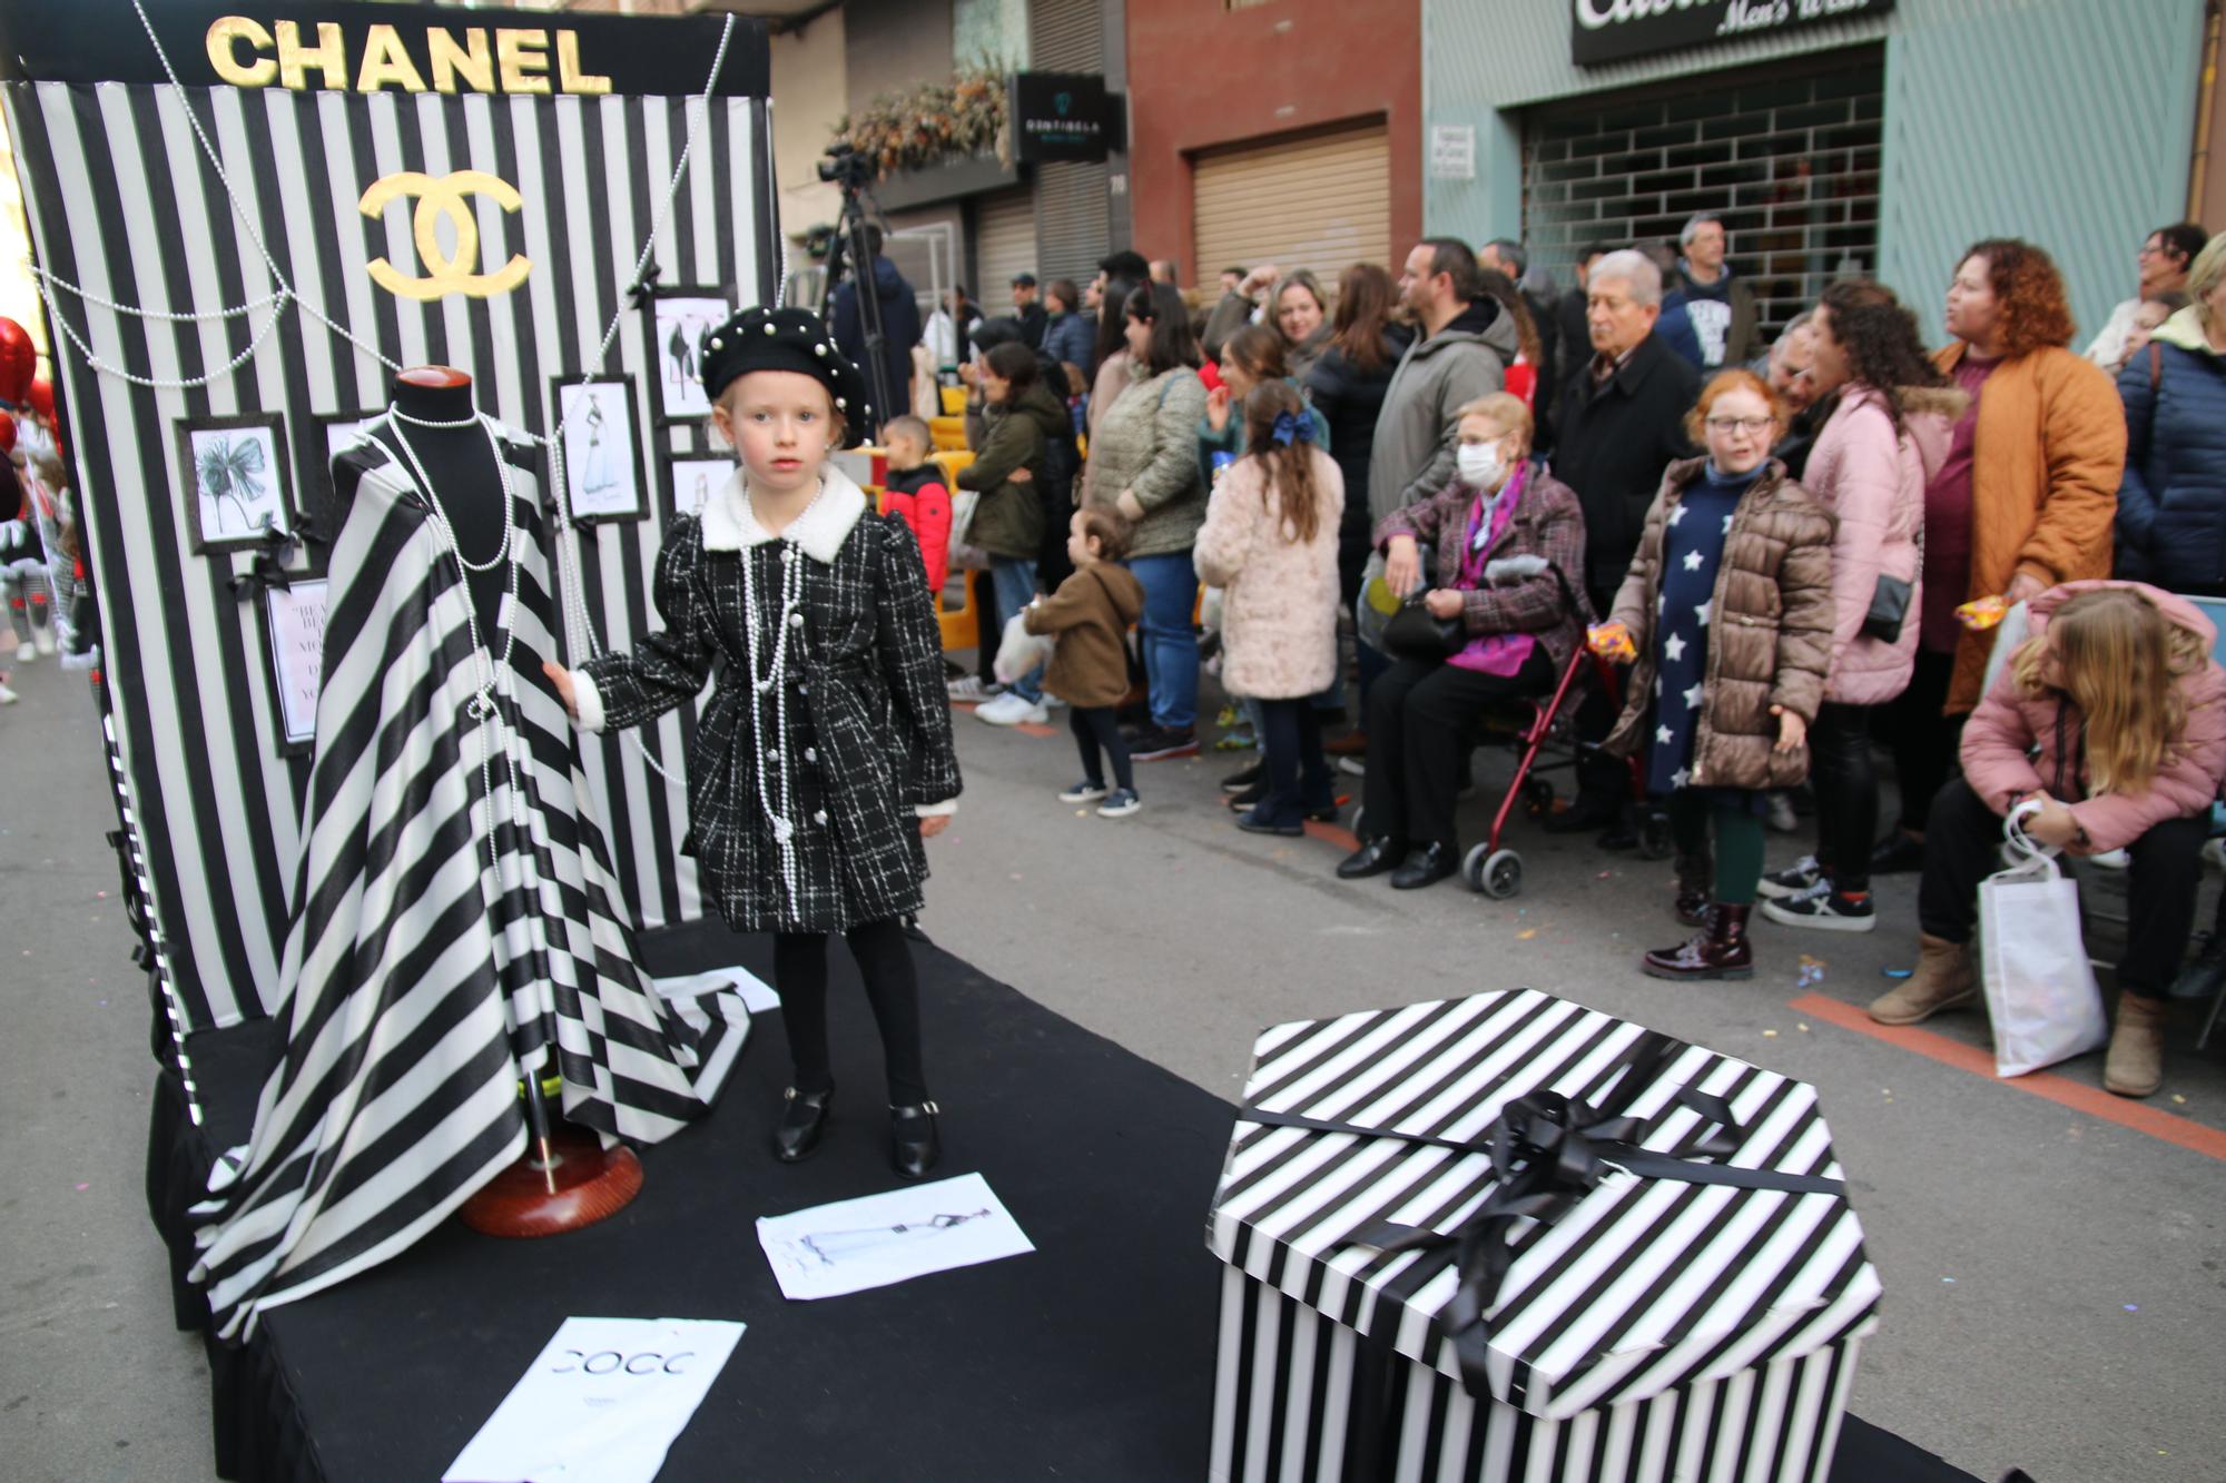
[[[959,793],[919,548],[828,463],[859,443],[873,407],[815,314],[730,318],[703,345],[703,390],[741,465],[666,534],[663,630],[634,655],[548,666],[550,677],[599,733],[695,699],[717,672],[688,755],[681,848],[735,931],[775,933],[795,1060],[775,1156],[806,1158],[826,1129],[826,937],[844,933],[881,1029],[893,1162],[919,1178],[939,1156],[937,1107],[902,920],[922,906],[922,839],[942,833]]]

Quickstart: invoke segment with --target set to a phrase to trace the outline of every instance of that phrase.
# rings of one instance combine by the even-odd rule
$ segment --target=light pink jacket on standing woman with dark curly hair
[[[1825,699],[1883,706],[1901,695],[1917,668],[1925,523],[1925,481],[1948,459],[1954,421],[1970,399],[1957,387],[1901,387],[1901,434],[1877,387],[1850,385],[1816,434],[1801,488],[1834,514],[1832,537],[1832,675]],[[1910,583],[1901,639],[1863,637],[1879,577]]]

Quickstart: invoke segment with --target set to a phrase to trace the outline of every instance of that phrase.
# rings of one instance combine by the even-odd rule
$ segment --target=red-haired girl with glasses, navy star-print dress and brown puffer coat
[[[1607,748],[1645,748],[1647,788],[1670,804],[1678,920],[1698,929],[1641,966],[1750,978],[1763,790],[1808,777],[1832,661],[1832,517],[1770,456],[1785,405],[1761,376],[1710,381],[1687,432],[1707,456],[1663,474],[1616,592],[1612,623],[1629,630],[1634,668]]]

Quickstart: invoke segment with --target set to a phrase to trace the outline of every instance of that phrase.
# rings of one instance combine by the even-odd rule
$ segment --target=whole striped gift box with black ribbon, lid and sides
[[[1356,1236],[1456,1231],[1498,1189],[1491,1158],[1240,1116],[1209,1227],[1227,1263],[1215,1483],[1823,1483],[1877,1327],[1861,1222],[1836,1187],[1705,1173],[1841,1180],[1816,1091],[1663,1040],[1534,989],[1262,1033],[1247,1111],[1467,1142],[1560,1093],[1636,1118],[1636,1149],[1730,1151],[1638,1176],[1609,1149],[1556,1218],[1511,1222],[1465,1378],[1442,1325],[1451,1254]]]

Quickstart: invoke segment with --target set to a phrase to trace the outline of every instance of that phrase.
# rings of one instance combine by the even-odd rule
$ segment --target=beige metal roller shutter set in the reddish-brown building
[[[1311,267],[1324,285],[1353,263],[1391,263],[1391,138],[1385,125],[1198,156],[1195,278],[1229,265]]]

